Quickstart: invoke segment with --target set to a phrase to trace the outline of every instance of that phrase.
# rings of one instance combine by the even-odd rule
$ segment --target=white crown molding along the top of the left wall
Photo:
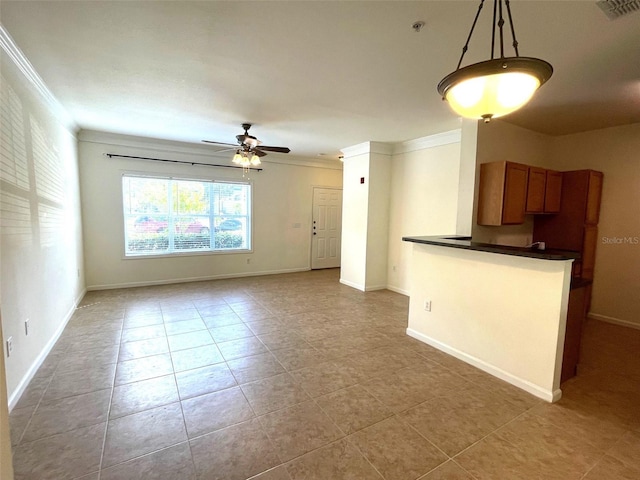
[[[22,50],[16,45],[16,42],[14,42],[2,24],[0,24],[0,47],[2,47],[15,66],[22,72],[27,83],[42,97],[58,120],[67,130],[75,134],[79,129],[78,125],[53,93],[51,93],[49,87],[47,87],[40,75],[38,75],[38,72],[33,68],[29,59],[22,53]]]

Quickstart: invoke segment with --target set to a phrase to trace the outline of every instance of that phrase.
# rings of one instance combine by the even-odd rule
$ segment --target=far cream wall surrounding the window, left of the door
[[[253,252],[124,258],[122,174],[157,173],[182,178],[242,180],[241,169],[212,168],[135,159],[105,153],[229,164],[211,148],[122,135],[80,133],[80,183],[88,289],[149,285],[310,268],[313,187],[341,187],[338,161],[263,159],[253,183]],[[278,162],[278,163],[275,163]],[[295,227],[299,224],[299,227]],[[250,263],[247,263],[250,260]]]

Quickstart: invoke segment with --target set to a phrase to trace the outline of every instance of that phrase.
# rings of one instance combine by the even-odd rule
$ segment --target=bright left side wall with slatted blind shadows
[[[82,297],[84,267],[76,138],[31,82],[35,72],[26,77],[0,55],[0,289],[2,333],[13,339],[5,358],[12,406]]]

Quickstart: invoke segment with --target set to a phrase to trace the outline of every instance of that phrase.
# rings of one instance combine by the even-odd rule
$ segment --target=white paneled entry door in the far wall
[[[340,266],[342,235],[342,190],[313,189],[313,223],[311,229],[311,268]]]

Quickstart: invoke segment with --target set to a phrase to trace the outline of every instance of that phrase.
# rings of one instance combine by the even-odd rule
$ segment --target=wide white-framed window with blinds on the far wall
[[[124,175],[125,256],[251,249],[251,185]]]

